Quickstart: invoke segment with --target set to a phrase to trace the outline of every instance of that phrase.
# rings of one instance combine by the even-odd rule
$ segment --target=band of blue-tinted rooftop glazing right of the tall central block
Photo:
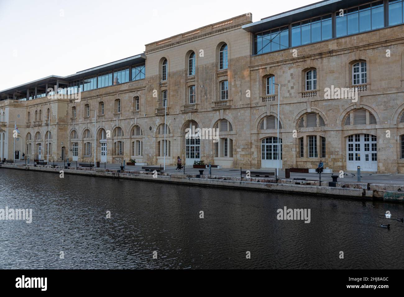
[[[404,0],[372,1],[255,33],[254,54],[274,52],[402,23]]]

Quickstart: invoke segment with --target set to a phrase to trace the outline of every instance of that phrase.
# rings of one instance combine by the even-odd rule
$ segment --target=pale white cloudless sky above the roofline
[[[140,54],[145,44],[318,0],[0,0],[0,90]]]

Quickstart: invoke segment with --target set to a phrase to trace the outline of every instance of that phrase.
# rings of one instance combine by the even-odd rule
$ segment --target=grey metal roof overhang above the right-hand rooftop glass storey
[[[309,4],[303,7],[289,10],[284,13],[279,13],[278,15],[273,15],[271,17],[261,19],[261,21],[244,25],[242,26],[242,29],[248,32],[257,33],[268,29],[288,25],[290,23],[294,23],[304,19],[309,19],[311,17],[326,15],[327,13],[335,13],[340,9],[369,3],[371,1],[372,0],[324,0],[321,2],[316,2],[314,4]]]

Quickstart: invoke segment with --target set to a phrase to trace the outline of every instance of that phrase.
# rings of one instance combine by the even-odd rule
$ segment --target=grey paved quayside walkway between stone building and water
[[[24,164],[25,161],[16,161],[15,163],[18,164]],[[31,161],[32,163],[32,161]],[[79,163],[84,163],[84,162],[77,162],[77,165]],[[50,165],[52,165],[53,162],[50,162]],[[63,165],[63,162],[55,162],[55,165]],[[92,163],[94,165],[94,163]],[[107,168],[107,169],[120,169],[121,164],[103,164],[101,163],[100,168]],[[76,162],[72,162],[70,166],[76,166]],[[79,166],[79,165],[78,165]],[[158,165],[149,165],[149,166],[155,166],[159,167]],[[125,166],[126,170],[141,170],[142,166]],[[162,166],[163,168],[163,166]],[[179,173],[175,171],[175,166],[166,166],[166,172],[168,173]],[[249,170],[249,168],[243,168],[243,170]],[[198,168],[193,168],[191,166],[185,166],[185,174],[199,174]],[[269,171],[269,172],[275,172],[275,169],[253,169],[254,171]],[[204,174],[208,174],[209,169],[204,169]],[[337,172],[335,174],[338,174]],[[212,168],[212,175],[218,175],[218,176],[240,176],[240,169],[214,169]],[[321,180],[322,181],[332,181],[331,178],[332,174],[321,174]],[[362,173],[361,174],[361,182],[367,182],[367,183],[381,183],[381,184],[404,184],[404,175],[402,174],[370,174],[370,173]],[[279,177],[280,178],[285,178],[285,171],[284,170],[279,170]],[[290,178],[305,178],[306,180],[319,180],[319,175],[318,174],[311,174],[311,173],[291,173]],[[338,178],[338,180],[341,180]],[[343,179],[345,182],[357,182],[357,176],[356,173],[351,174],[351,173],[346,173]]]

